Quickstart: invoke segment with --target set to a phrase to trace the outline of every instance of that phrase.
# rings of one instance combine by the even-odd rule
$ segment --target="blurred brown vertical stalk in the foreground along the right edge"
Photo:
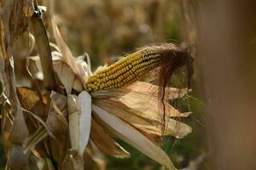
[[[211,169],[256,167],[256,1],[203,1],[198,84],[207,112]]]

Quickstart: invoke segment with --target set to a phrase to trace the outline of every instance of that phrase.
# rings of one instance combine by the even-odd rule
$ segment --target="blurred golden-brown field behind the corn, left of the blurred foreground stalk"
[[[49,1],[40,0],[40,5],[49,8]],[[55,19],[69,48],[75,56],[86,52],[90,55],[93,70],[105,63],[111,64],[136,48],[160,43],[172,42],[191,48],[196,55],[196,1],[177,0],[55,0]],[[49,12],[44,14],[44,23],[49,28]],[[49,40],[51,32],[49,33]],[[20,43],[22,42],[22,43]],[[25,69],[27,33],[15,43],[15,70],[20,85],[27,85],[28,75]],[[26,75],[26,77],[24,77]],[[22,77],[22,78],[21,78]],[[172,86],[187,86],[183,71],[172,78]],[[196,77],[195,77],[196,79]],[[182,99],[173,101],[181,111],[193,111],[182,120],[193,128],[184,139],[163,139],[163,148],[177,168],[183,170],[209,169],[207,164],[207,145],[205,139],[205,118],[203,104],[197,96],[192,82],[193,92]],[[131,151],[131,159],[116,159],[104,156],[108,170],[157,170],[160,165],[137,152],[129,145],[120,142]],[[5,158],[0,145],[0,169],[4,169]]]

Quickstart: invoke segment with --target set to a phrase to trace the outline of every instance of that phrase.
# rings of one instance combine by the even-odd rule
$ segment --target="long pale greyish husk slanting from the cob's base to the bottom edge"
[[[122,139],[127,144],[131,144],[131,146],[141,151],[144,155],[159,162],[168,169],[176,169],[166,153],[147,137],[143,136],[142,133],[139,133],[136,128],[131,127],[131,125],[122,121],[117,116],[109,114],[96,105],[92,105],[92,111],[94,111],[98,119],[103,123],[104,127],[114,133],[116,137]]]

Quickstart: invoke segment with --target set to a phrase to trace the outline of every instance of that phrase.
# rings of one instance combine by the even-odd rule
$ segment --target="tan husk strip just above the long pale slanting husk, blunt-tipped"
[[[191,127],[169,117],[166,117],[165,131],[163,131],[164,125],[160,120],[147,116],[146,113],[135,111],[118,100],[96,99],[94,104],[115,116],[119,116],[119,118],[123,119],[125,122],[130,123],[133,127],[137,127],[146,133],[159,136],[172,135],[177,138],[183,138],[188,133],[191,133]]]

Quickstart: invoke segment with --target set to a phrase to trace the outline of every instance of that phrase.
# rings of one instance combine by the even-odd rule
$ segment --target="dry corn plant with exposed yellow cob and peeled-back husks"
[[[1,82],[3,82],[3,146],[6,169],[99,169],[102,153],[130,157],[115,139],[121,139],[159,162],[176,169],[160,148],[161,138],[182,139],[191,127],[177,119],[189,116],[169,101],[187,94],[188,88],[167,87],[177,68],[193,74],[193,59],[185,48],[171,43],[138,48],[112,65],[91,71],[88,55],[74,57],[54,15],[49,42],[37,1],[14,2],[9,28],[1,18]],[[29,31],[29,50],[38,55],[26,59],[35,87],[18,87],[12,65],[15,39]],[[86,61],[85,61],[86,59]],[[31,70],[31,68],[33,68]],[[44,90],[36,80],[44,82]],[[145,80],[142,82],[142,80]],[[152,83],[149,83],[152,82]],[[189,84],[189,83],[188,83]]]

